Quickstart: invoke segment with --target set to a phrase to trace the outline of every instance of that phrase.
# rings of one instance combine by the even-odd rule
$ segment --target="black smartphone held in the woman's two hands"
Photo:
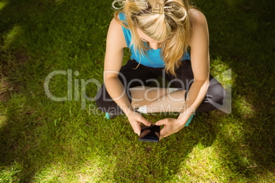
[[[151,126],[142,125],[142,131],[138,141],[159,142],[160,126],[152,124]]]

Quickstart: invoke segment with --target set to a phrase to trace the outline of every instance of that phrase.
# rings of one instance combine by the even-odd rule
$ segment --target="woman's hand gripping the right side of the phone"
[[[161,119],[155,123],[157,126],[164,125],[164,127],[160,131],[159,141],[163,137],[168,137],[175,132],[179,132],[184,127],[184,124],[179,119],[174,118],[166,118]]]

